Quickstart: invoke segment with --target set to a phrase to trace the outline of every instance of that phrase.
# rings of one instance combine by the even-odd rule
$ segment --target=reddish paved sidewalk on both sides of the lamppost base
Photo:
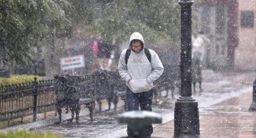
[[[199,109],[201,137],[256,137],[256,112],[248,112],[252,92]],[[154,127],[152,137],[173,137],[173,120]]]

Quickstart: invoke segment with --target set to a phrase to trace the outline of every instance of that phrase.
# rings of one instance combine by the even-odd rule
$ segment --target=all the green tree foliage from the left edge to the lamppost
[[[34,48],[70,37],[74,28],[110,43],[128,41],[137,31],[147,44],[180,46],[180,5],[175,0],[1,0],[0,62],[33,61]]]

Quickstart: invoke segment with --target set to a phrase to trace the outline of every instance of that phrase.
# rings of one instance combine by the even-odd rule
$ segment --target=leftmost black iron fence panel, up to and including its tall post
[[[1,86],[0,121],[22,118],[33,114],[33,83]]]

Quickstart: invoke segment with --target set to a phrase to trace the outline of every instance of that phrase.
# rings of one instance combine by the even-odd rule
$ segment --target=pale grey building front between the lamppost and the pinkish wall
[[[238,2],[204,0],[195,3],[198,32],[210,39],[205,50],[207,68],[222,70],[234,67],[239,46]]]

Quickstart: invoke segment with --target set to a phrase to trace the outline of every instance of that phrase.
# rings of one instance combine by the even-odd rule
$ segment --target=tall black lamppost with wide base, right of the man
[[[198,102],[192,97],[192,4],[181,5],[181,97],[175,101],[173,137],[200,137]]]

